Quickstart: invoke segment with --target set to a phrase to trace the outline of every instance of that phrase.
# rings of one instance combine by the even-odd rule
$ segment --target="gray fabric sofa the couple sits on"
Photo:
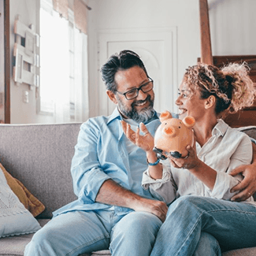
[[[50,220],[54,210],[76,198],[70,165],[79,130],[80,124],[0,125],[0,162],[46,206],[46,210],[36,217],[42,226]],[[256,139],[256,128],[247,128],[245,132]],[[1,238],[0,255],[23,255],[32,236]],[[109,250],[102,250],[92,255],[110,254]],[[256,247],[224,255],[256,255]]]

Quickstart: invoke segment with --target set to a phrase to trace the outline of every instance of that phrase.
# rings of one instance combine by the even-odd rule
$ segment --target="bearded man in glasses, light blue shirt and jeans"
[[[154,246],[168,207],[143,190],[146,154],[126,139],[121,128],[121,120],[133,129],[143,122],[154,135],[160,124],[154,111],[154,82],[130,50],[111,56],[102,67],[102,78],[117,109],[109,117],[91,118],[81,125],[71,166],[78,199],[54,212],[53,220],[35,233],[24,255],[78,255],[109,249],[112,255],[146,256]],[[213,254],[206,248],[210,239],[200,241],[197,255],[205,250]]]

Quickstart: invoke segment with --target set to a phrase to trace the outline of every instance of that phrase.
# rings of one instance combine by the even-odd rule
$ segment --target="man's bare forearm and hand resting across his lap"
[[[128,207],[135,211],[152,213],[162,222],[165,221],[168,207],[165,202],[142,198],[132,191],[121,187],[115,181],[106,180],[98,191],[96,202],[102,202],[113,206]]]

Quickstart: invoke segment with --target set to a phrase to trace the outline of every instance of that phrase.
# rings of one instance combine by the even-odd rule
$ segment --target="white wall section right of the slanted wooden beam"
[[[213,55],[256,54],[256,1],[208,1]]]

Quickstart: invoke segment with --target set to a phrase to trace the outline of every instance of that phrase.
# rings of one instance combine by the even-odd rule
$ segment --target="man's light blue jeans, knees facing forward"
[[[158,230],[158,217],[132,212],[118,216],[114,211],[73,211],[54,217],[25,248],[25,256],[90,254],[109,249],[112,255],[150,255]]]

